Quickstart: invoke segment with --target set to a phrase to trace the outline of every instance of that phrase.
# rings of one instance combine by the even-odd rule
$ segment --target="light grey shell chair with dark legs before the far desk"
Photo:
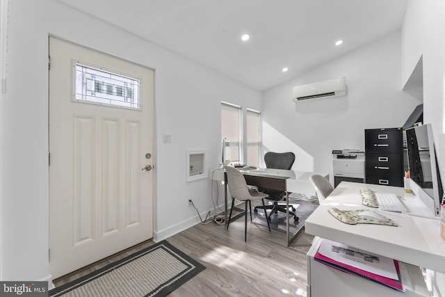
[[[250,209],[250,221],[252,221],[252,204],[250,201],[252,200],[261,200],[264,205],[264,198],[268,197],[268,194],[264,194],[261,192],[253,191],[248,188],[247,183],[245,182],[245,178],[238,169],[232,166],[224,166],[225,172],[227,174],[227,186],[229,187],[230,195],[232,196],[232,207],[230,208],[229,220],[227,222],[227,229],[229,229],[230,219],[232,218],[232,211],[234,209],[235,199],[240,201],[245,201],[245,223],[244,223],[244,241],[247,241],[247,229],[248,229],[248,203]],[[269,220],[267,219],[267,211],[264,209],[264,214],[266,215],[267,226],[270,225]]]

